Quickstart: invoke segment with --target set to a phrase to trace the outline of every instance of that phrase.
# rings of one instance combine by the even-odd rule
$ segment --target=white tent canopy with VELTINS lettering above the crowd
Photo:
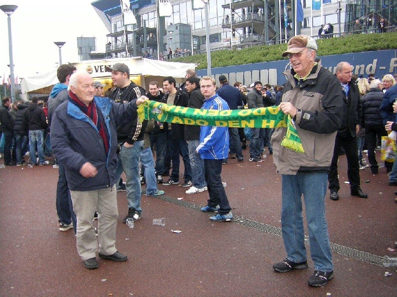
[[[113,66],[116,63],[124,63],[130,68],[130,75],[143,75],[153,77],[172,76],[176,79],[183,79],[186,70],[195,69],[197,64],[166,62],[141,57],[117,58],[103,60],[88,60],[72,63],[77,71],[86,71],[93,78],[110,77],[111,73],[105,71],[106,66]],[[57,70],[46,73],[38,73],[31,77],[23,78],[21,82],[22,93],[49,94],[53,86],[58,83]]]

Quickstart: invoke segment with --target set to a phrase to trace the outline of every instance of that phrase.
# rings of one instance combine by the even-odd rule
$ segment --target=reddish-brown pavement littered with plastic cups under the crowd
[[[119,192],[116,246],[129,259],[99,259],[95,270],[83,267],[73,231],[59,231],[58,169],[0,168],[0,296],[397,296],[397,272],[382,265],[385,255],[397,257],[397,187],[388,185],[386,168],[375,176],[369,168],[360,170],[369,198],[352,197],[344,183],[346,157],[340,156],[340,199],[332,201],[328,193],[325,201],[335,277],[312,288],[310,254],[308,269],[273,271],[272,264],[285,258],[280,176],[271,155],[250,162],[248,148],[243,154],[244,162],[229,159],[222,167],[232,222],[211,222],[210,214],[199,211],[206,191],[188,195],[181,185],[159,185],[165,195],[142,195],[142,218],[130,229],[122,222],[126,192]],[[165,225],[153,225],[154,218],[165,218]]]

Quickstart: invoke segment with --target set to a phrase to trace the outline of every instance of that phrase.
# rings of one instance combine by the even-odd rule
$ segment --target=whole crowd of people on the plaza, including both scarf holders
[[[308,284],[324,286],[333,278],[325,197],[329,188],[331,200],[339,199],[337,160],[346,155],[351,195],[368,198],[360,186],[359,170],[367,168],[362,151],[367,149],[370,170],[378,174],[375,149],[380,137],[387,131],[397,131],[397,86],[392,75],[385,75],[382,81],[373,75],[356,80],[353,67],[343,61],[332,74],[316,54],[313,38],[291,38],[282,53],[292,65],[285,72],[287,82],[283,86],[264,85],[261,81],[249,87],[241,82],[231,86],[227,77],[220,75],[217,88],[213,78],[199,79],[195,70],[189,69],[180,87],[169,76],[161,82],[151,81],[146,92],[130,80],[126,64],[116,63],[106,67],[113,81],[106,97],[104,85],[94,82],[89,74],[76,72],[72,65],[61,65],[57,71],[59,83],[43,106],[38,98],[33,98],[30,105],[3,99],[0,127],[5,138],[4,164],[25,165],[29,139],[29,164],[45,165],[44,142],[50,135],[46,147],[59,164],[59,229],[73,228],[84,267],[95,269],[97,251],[103,259],[127,260],[116,248],[118,191],[127,192],[124,223],[141,218],[142,194],[165,194],[157,188],[160,183],[170,192],[178,184],[187,188],[187,194],[207,191],[207,204],[201,211],[213,213],[211,221],[231,221],[233,214],[221,179],[222,164],[229,158],[244,162],[242,150],[247,149],[249,140],[249,161],[265,158],[267,147],[281,174],[286,258],[273,265],[274,271],[285,273],[308,267],[303,196],[315,265]],[[145,100],[215,110],[278,106],[290,116],[305,152],[281,147],[285,127],[243,129],[139,119],[137,108]],[[389,185],[396,186],[397,162],[386,164],[386,168]],[[145,189],[142,184],[146,184]],[[93,225],[95,218],[98,229]]]

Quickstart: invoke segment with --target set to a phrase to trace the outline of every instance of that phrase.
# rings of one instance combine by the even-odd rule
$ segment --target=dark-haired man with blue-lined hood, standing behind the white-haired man
[[[55,109],[64,101],[67,100],[68,92],[67,86],[69,85],[70,76],[76,72],[76,67],[70,64],[63,64],[58,67],[57,77],[59,83],[56,84],[48,98],[48,125],[51,129],[51,119]],[[58,164],[59,176],[57,185],[57,213],[59,217],[59,230],[67,231],[74,228],[76,234],[76,215],[73,211],[73,205],[70,198],[69,188],[66,182],[65,166]]]

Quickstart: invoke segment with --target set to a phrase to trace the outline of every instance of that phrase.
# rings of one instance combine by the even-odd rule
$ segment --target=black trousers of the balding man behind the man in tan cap
[[[331,192],[338,192],[340,189],[338,179],[338,157],[340,148],[344,148],[347,158],[347,178],[350,182],[350,191],[354,192],[360,189],[360,174],[358,166],[357,154],[357,138],[346,136],[340,137],[336,135],[335,146],[333,148],[333,156],[331,161],[330,173],[328,174],[329,189]]]

